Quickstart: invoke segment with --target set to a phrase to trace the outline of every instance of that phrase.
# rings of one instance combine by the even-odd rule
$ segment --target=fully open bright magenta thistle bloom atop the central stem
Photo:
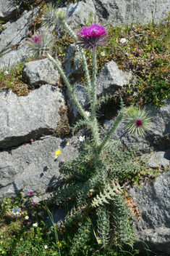
[[[106,28],[102,25],[93,24],[89,27],[81,28],[77,34],[79,40],[77,44],[82,48],[93,49],[107,44]]]

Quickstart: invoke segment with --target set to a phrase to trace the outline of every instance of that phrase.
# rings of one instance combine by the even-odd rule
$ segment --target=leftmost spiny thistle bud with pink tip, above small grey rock
[[[28,49],[33,53],[33,57],[37,58],[41,55],[45,55],[45,53],[50,50],[54,44],[54,39],[51,36],[38,33],[36,36],[33,36],[33,39],[30,39],[27,44]]]

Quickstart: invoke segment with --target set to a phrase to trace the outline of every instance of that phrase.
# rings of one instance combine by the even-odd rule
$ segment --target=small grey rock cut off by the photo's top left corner
[[[11,0],[1,0],[0,20],[9,20],[17,16],[17,5]]]

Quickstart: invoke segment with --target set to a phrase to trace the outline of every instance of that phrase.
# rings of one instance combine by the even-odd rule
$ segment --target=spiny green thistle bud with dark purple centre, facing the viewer
[[[144,109],[130,107],[125,117],[124,123],[126,124],[125,129],[129,133],[134,133],[137,135],[145,135],[145,130],[150,129],[150,119],[149,113],[145,112]]]

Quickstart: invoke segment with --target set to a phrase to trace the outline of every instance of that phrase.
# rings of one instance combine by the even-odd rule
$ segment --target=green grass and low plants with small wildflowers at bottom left
[[[48,215],[51,217],[51,212],[46,207],[46,204],[30,204],[25,207],[25,199],[20,193],[16,199],[11,200],[6,197],[1,204],[0,215],[3,225],[0,228],[0,254],[8,256],[41,256],[41,255],[113,255],[124,256],[127,255],[121,252],[121,249],[114,251],[109,249],[106,253],[97,243],[95,236],[88,237],[88,241],[83,241],[80,244],[80,250],[75,253],[70,253],[70,248],[74,242],[74,235],[82,226],[80,222],[87,223],[84,232],[88,232],[89,224],[85,217],[77,217],[72,222],[68,220],[66,225],[52,225],[49,226],[45,220]],[[18,215],[12,214],[12,209],[18,207],[20,213]],[[52,210],[52,208],[51,208]],[[35,213],[35,216],[32,214]],[[25,220],[25,216],[29,218]],[[53,220],[52,220],[53,221]],[[38,227],[33,227],[33,223],[38,223]],[[56,235],[55,235],[56,234]],[[82,246],[81,246],[82,245]],[[45,249],[44,246],[48,248]],[[132,255],[136,255],[137,251],[133,251]],[[129,255],[131,255],[129,253]]]

